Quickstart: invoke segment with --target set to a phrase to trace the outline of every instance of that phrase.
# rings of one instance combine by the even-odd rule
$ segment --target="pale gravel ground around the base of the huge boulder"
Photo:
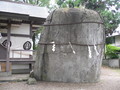
[[[120,73],[102,67],[99,83],[37,82],[36,85],[27,85],[26,82],[4,82],[0,84],[0,90],[120,90]]]

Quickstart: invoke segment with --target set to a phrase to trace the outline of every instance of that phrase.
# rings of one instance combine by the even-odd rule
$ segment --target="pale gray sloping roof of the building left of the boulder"
[[[0,0],[0,12],[8,12],[15,14],[25,14],[31,17],[47,18],[48,10],[46,7],[38,7],[34,5],[24,4],[21,2]]]

